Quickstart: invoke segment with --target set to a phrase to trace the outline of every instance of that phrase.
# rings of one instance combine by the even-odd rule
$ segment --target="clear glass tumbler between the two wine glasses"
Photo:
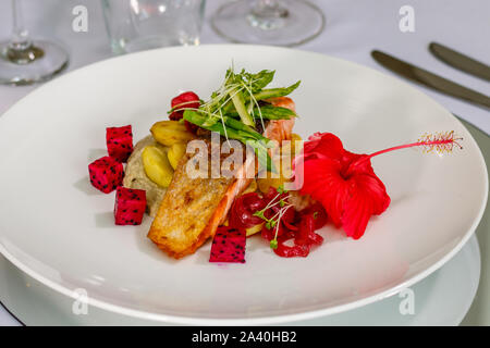
[[[199,45],[206,0],[102,0],[117,54]]]

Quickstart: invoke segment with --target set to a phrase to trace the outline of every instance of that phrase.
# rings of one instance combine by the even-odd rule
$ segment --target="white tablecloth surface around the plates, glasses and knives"
[[[201,44],[221,44],[209,26],[209,17],[223,0],[208,0],[206,23],[203,28]],[[315,40],[298,49],[326,53],[384,71],[371,58],[372,49],[380,49],[403,58],[441,76],[450,78],[469,88],[490,95],[490,84],[473,77],[433,58],[427,47],[438,41],[455,48],[466,54],[489,63],[490,45],[490,1],[488,0],[311,0],[324,12],[327,26]],[[414,8],[415,32],[402,33],[399,22],[401,7]],[[72,29],[76,5],[88,10],[88,32],[75,33]],[[24,1],[25,22],[33,37],[56,39],[70,51],[69,70],[110,58],[109,39],[106,34],[100,0],[42,0]],[[0,40],[8,39],[11,25],[10,1],[0,2]],[[14,102],[38,86],[0,86],[0,115]],[[490,134],[489,111],[457,99],[419,87],[424,92],[440,102],[462,119],[476,125],[487,135]],[[488,161],[488,160],[487,160]],[[468,315],[463,324],[490,325],[490,276],[488,238],[488,213],[483,216],[478,235],[482,268],[480,287]],[[14,325],[17,322],[0,308],[0,325]]]

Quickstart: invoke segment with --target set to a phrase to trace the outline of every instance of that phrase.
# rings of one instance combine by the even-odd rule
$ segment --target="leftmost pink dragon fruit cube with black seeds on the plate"
[[[94,187],[109,194],[122,185],[124,170],[122,163],[106,156],[88,164],[88,175]]]

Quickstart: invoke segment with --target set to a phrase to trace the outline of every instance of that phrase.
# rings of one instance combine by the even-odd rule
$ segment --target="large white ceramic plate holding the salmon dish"
[[[210,246],[174,261],[142,226],[113,225],[114,194],[90,187],[87,164],[105,154],[105,128],[132,124],[135,138],[166,117],[182,90],[203,97],[237,69],[277,70],[294,92],[296,133],[332,132],[371,152],[455,130],[464,150],[437,157],[405,150],[373,160],[392,198],[360,240],[326,228],[306,259],[275,257],[260,238],[247,263],[208,263]],[[445,263],[483,213],[488,174],[464,126],[404,83],[297,50],[203,46],[131,54],[68,74],[0,119],[0,251],[34,278],[91,304],[167,323],[261,324],[338,313],[390,296]]]

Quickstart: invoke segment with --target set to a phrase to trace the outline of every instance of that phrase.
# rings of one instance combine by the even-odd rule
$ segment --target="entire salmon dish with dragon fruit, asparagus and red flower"
[[[371,158],[462,148],[454,132],[371,154],[345,150],[331,133],[315,133],[303,147],[287,97],[299,82],[266,88],[274,73],[229,69],[208,101],[193,91],[176,96],[170,120],[156,122],[134,149],[131,125],[108,127],[109,157],[89,164],[89,174],[99,190],[118,189],[115,224],[138,225],[146,210],[154,217],[148,238],[175,259],[212,238],[210,262],[245,263],[246,238],[255,234],[280,257],[307,257],[329,221],[358,239],[390,206]]]

